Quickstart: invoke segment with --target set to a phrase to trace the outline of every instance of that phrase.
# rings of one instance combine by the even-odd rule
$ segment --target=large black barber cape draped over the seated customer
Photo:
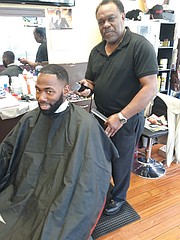
[[[87,240],[118,153],[97,120],[69,104],[24,115],[0,147],[0,239]]]

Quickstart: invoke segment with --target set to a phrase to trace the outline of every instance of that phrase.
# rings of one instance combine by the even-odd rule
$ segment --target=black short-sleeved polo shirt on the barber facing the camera
[[[105,43],[102,41],[92,49],[85,78],[95,83],[97,107],[112,114],[137,94],[141,88],[139,78],[158,73],[158,64],[152,44],[129,28],[110,56],[105,53]]]

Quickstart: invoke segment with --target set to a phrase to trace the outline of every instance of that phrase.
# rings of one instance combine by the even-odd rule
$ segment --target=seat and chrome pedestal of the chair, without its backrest
[[[147,148],[145,149],[145,156],[135,158],[132,166],[132,172],[144,178],[159,178],[165,174],[166,170],[163,164],[151,158],[151,151],[153,139],[167,134],[168,130],[152,132],[144,128],[142,136],[148,139]]]

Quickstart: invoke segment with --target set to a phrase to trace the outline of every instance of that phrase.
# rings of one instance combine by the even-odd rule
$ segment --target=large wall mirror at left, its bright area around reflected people
[[[33,30],[37,26],[45,27],[43,9],[1,8],[0,65],[4,51],[12,51],[15,61],[18,58],[35,60],[39,44],[35,41]]]

